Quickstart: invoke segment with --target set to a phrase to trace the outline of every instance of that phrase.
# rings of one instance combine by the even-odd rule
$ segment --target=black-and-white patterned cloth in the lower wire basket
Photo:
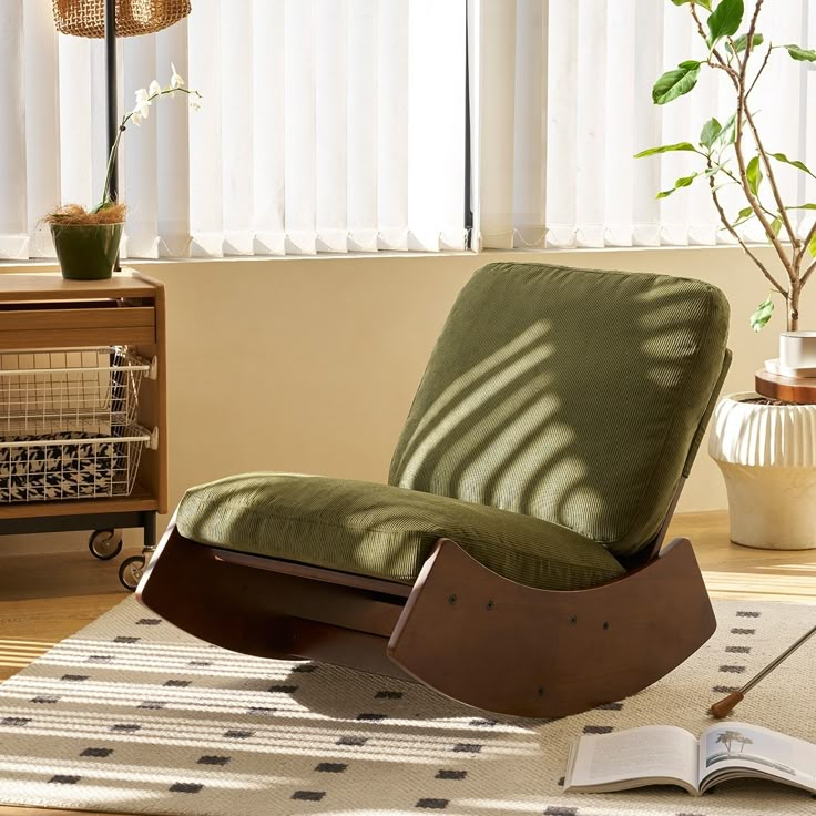
[[[126,442],[111,441],[110,435],[0,436],[0,503],[128,492]]]

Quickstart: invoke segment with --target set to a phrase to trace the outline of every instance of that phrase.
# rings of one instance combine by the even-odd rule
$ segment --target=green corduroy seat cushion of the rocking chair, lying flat
[[[624,572],[603,547],[530,516],[317,476],[246,473],[202,484],[186,492],[176,521],[203,544],[404,583],[440,537],[540,589],[594,586]]]

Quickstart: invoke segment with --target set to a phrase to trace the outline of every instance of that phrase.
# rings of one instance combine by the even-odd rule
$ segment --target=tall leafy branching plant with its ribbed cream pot
[[[733,92],[734,109],[723,121],[713,116],[696,143],[650,147],[636,157],[670,152],[698,156],[700,169],[657,193],[665,198],[695,182],[706,183],[723,228],[740,244],[771,286],[771,296],[751,316],[762,329],[774,313],[774,298],[785,305],[786,332],[781,336],[776,373],[816,374],[816,332],[799,330],[802,290],[816,272],[816,222],[797,225],[797,212],[816,204],[785,202],[777,173],[816,175],[798,159],[766,145],[752,109],[752,93],[769,61],[790,60],[792,68],[816,62],[816,51],[798,44],[769,42],[761,31],[764,0],[746,14],[744,0],[671,0],[687,7],[701,41],[701,59],[666,71],[652,89],[655,104],[667,104],[690,92],[703,70],[718,72]],[[730,212],[723,188],[743,198]],[[759,257],[740,227],[756,220],[774,249],[774,263]],[[798,228],[797,228],[798,227]],[[816,382],[816,380],[814,380]],[[712,422],[710,452],[725,477],[731,510],[731,538],[749,547],[805,549],[816,547],[816,406],[787,405],[754,392],[721,400]]]

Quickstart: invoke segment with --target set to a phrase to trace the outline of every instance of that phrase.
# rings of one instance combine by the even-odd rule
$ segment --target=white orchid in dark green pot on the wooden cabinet
[[[92,210],[81,204],[65,204],[43,217],[51,227],[57,258],[63,277],[72,280],[96,280],[111,277],[119,255],[128,207],[111,196],[111,178],[120,143],[128,125],[140,125],[150,114],[153,102],[176,93],[190,96],[191,108],[197,109],[197,91],[184,88],[184,80],[171,63],[170,83],[162,88],[156,80],[136,91],[136,104],[122,116],[119,133],[108,155],[102,197]]]

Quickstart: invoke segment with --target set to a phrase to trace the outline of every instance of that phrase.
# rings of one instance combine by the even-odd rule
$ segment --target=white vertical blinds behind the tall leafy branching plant
[[[765,41],[816,45],[808,0],[766,2]],[[746,0],[745,23],[754,9]],[[722,72],[665,106],[651,89],[664,71],[704,59],[688,6],[669,0],[481,0],[471,14],[479,101],[478,212],[486,247],[603,247],[731,243],[707,186],[659,191],[700,165],[687,153],[633,159],[646,147],[696,143],[704,122],[734,111]],[[752,95],[768,150],[816,164],[816,74],[775,51]],[[715,75],[716,74],[716,75]],[[814,202],[816,182],[781,166],[783,196]],[[728,188],[730,214],[744,206]],[[804,221],[808,211],[797,211]],[[802,227],[802,224],[800,224]],[[804,233],[804,228],[800,230]],[[749,241],[762,228],[744,227]]]

